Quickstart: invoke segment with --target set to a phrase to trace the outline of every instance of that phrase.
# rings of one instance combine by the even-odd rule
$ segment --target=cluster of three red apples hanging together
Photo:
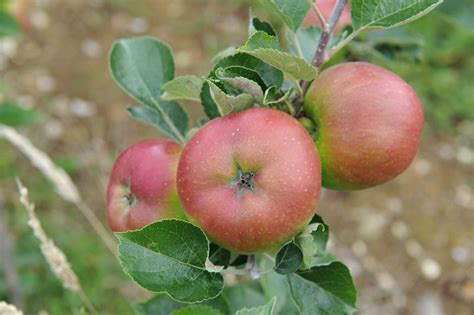
[[[266,251],[308,224],[321,185],[375,186],[416,154],[420,100],[381,67],[350,62],[323,71],[303,108],[299,120],[264,107],[216,118],[184,148],[170,140],[131,146],[110,178],[112,230],[183,218],[229,250]]]

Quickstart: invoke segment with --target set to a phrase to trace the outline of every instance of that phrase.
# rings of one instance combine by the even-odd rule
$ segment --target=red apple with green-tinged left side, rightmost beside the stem
[[[415,91],[381,67],[350,62],[312,82],[304,111],[317,125],[323,186],[363,189],[402,173],[415,157],[423,108]]]

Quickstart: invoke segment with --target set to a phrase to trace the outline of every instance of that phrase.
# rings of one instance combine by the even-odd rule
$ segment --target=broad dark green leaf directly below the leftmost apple
[[[222,276],[206,270],[209,241],[191,223],[163,220],[116,236],[123,270],[145,289],[189,303],[222,291]]]

